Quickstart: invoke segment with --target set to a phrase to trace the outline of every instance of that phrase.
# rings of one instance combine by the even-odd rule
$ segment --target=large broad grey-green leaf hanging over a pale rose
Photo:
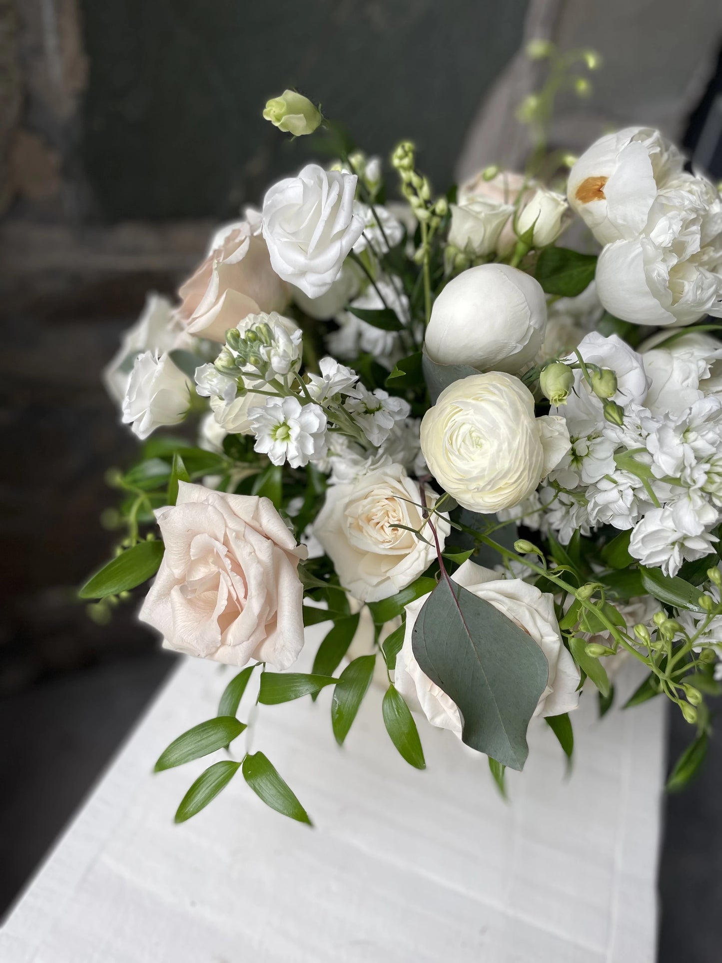
[[[549,677],[536,642],[489,602],[442,579],[419,612],[412,643],[422,670],[458,706],[463,742],[523,768],[529,719]]]

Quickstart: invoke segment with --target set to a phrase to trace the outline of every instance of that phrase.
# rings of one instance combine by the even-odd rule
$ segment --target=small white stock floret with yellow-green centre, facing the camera
[[[288,461],[302,468],[326,454],[326,416],[321,405],[301,404],[294,396],[271,401],[250,414],[256,452],[268,455],[274,465]]]

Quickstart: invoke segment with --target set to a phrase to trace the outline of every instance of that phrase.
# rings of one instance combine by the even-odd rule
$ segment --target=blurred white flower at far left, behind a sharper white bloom
[[[193,341],[179,324],[173,306],[162,295],[151,292],[145,299],[142,315],[135,325],[123,332],[120,348],[103,371],[108,394],[122,402],[133,364],[143,351],[191,350]]]

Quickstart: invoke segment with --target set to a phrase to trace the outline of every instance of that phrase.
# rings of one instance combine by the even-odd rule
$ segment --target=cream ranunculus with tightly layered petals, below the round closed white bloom
[[[534,417],[522,382],[492,372],[454,381],[426,411],[421,447],[459,505],[492,512],[523,502],[569,450],[563,418]]]

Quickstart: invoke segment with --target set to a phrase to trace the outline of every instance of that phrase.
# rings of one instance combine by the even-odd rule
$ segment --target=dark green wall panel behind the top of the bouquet
[[[297,86],[438,185],[521,39],[526,0],[85,0],[83,160],[103,220],[228,216],[306,145],[261,118]]]

